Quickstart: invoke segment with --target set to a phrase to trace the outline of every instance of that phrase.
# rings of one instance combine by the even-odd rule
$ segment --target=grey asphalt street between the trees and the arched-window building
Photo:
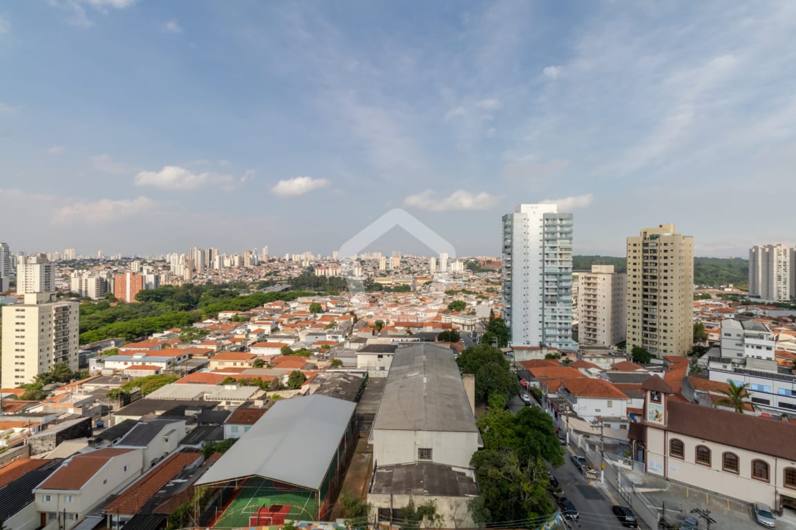
[[[603,530],[605,528],[624,528],[611,511],[614,501],[597,484],[597,481],[590,481],[572,463],[570,456],[572,451],[566,451],[567,462],[553,470],[552,474],[564,489],[564,494],[572,501],[580,514],[575,528],[595,528]]]

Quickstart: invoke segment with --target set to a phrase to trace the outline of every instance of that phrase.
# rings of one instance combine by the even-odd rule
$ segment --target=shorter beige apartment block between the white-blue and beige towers
[[[627,275],[614,265],[591,265],[578,274],[578,342],[612,346],[625,340]]]

